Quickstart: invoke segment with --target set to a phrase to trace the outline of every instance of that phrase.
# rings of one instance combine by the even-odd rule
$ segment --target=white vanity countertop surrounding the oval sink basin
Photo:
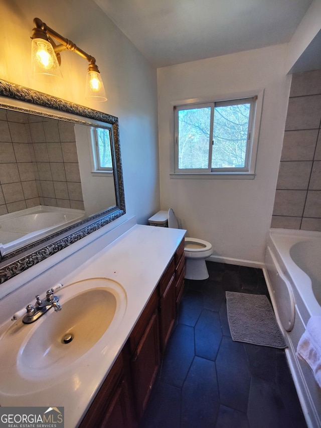
[[[104,230],[108,233],[104,234]],[[65,407],[66,428],[77,426],[89,407],[95,391],[99,389],[116,360],[185,232],[179,229],[137,225],[134,219],[129,219],[125,223],[115,221],[114,224],[104,226],[83,238],[82,242],[63,249],[2,284],[0,291],[4,288],[10,291],[11,288],[17,288],[17,284],[20,284],[21,288],[0,301],[0,323],[5,322],[1,328],[0,337],[4,329],[12,323],[10,319],[13,313],[28,303],[34,303],[36,294],[40,293],[43,296],[46,290],[57,282],[62,282],[66,286],[85,278],[110,278],[121,284],[125,290],[127,306],[122,322],[110,342],[100,344],[99,352],[95,348],[89,350],[82,359],[83,364],[79,369],[70,367],[70,372],[64,373],[63,376],[58,375],[54,381],[44,381],[41,386],[39,382],[35,386],[35,383],[29,380],[30,393],[25,395],[19,395],[21,381],[16,384],[16,394],[7,395],[2,390],[0,374],[0,404],[2,406],[48,406],[53,405],[54,402],[54,405]],[[83,246],[84,244],[87,245]],[[98,249],[100,251],[97,251]],[[60,260],[58,263],[57,259]],[[63,299],[60,303],[63,311]],[[90,305],[90,302],[88,304]],[[55,315],[57,314],[53,314]],[[41,322],[41,319],[37,322]],[[30,325],[23,327],[26,327],[27,335]],[[14,357],[12,361],[15,366]]]

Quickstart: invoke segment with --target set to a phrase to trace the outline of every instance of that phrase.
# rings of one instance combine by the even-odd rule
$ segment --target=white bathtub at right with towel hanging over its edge
[[[309,318],[321,316],[321,232],[270,229],[264,274],[307,425],[321,427],[321,388],[296,355]]]

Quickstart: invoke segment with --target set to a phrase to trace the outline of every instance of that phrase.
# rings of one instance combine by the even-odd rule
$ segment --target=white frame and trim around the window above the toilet
[[[264,90],[261,91],[249,91],[246,93],[237,93],[229,95],[221,95],[220,97],[212,98],[197,98],[193,100],[181,100],[173,102],[174,115],[173,117],[173,134],[174,140],[172,141],[172,156],[171,156],[171,173],[170,176],[173,179],[254,179],[255,178],[255,166],[258,149],[260,121],[263,106],[263,94]],[[233,102],[240,103],[245,100],[255,98],[252,111],[250,111],[251,117],[249,118],[249,129],[248,129],[248,144],[245,159],[244,168],[211,168],[212,162],[212,148],[210,144],[209,152],[209,165],[206,169],[179,169],[178,168],[178,111],[180,109],[186,110],[189,108],[197,107],[213,107],[221,105],[230,105]],[[176,108],[175,108],[176,107]],[[213,114],[211,114],[210,123],[210,135],[213,135]]]

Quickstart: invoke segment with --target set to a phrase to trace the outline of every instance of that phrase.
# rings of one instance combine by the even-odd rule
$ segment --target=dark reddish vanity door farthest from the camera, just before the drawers
[[[173,274],[170,283],[159,299],[159,318],[161,324],[161,350],[164,352],[176,317],[176,281]]]

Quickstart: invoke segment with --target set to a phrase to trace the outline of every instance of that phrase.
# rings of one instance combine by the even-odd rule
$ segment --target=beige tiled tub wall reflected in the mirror
[[[0,109],[0,215],[84,209],[74,124]]]

